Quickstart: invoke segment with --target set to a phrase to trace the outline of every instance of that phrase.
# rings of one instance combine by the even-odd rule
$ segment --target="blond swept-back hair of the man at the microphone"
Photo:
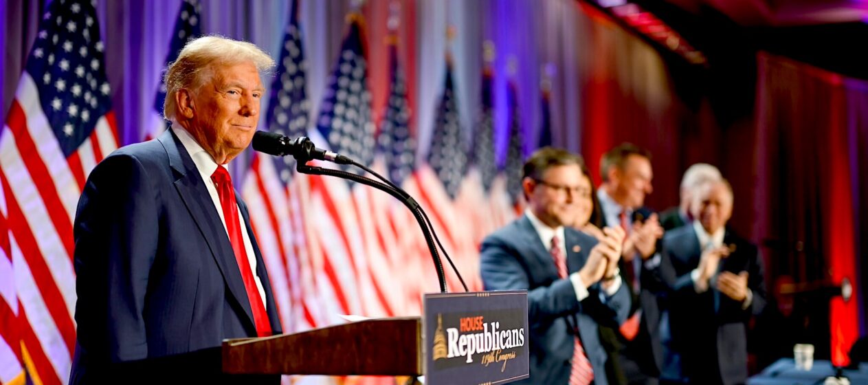
[[[187,42],[178,60],[169,63],[163,83],[166,85],[166,102],[163,116],[174,121],[177,112],[175,95],[181,89],[197,89],[213,74],[214,64],[233,65],[253,63],[257,70],[267,73],[274,68],[274,60],[253,43],[240,42],[219,36],[199,37]]]

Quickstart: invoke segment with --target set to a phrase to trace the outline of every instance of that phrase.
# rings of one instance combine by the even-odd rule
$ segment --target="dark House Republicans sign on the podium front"
[[[502,384],[529,376],[526,290],[424,296],[425,383]]]

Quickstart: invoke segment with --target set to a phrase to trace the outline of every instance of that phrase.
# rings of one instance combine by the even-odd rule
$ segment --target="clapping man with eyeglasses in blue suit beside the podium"
[[[487,236],[481,273],[486,290],[528,290],[533,384],[607,384],[598,325],[627,319],[630,299],[618,274],[624,231],[604,228],[598,242],[565,224],[589,194],[582,158],[543,148],[524,164],[524,215]]]

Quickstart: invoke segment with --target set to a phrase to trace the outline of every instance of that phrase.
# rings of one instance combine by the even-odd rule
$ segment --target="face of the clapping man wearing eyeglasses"
[[[579,196],[586,193],[578,164],[551,167],[538,181],[525,178],[524,189],[534,215],[551,228],[572,225],[579,209]]]

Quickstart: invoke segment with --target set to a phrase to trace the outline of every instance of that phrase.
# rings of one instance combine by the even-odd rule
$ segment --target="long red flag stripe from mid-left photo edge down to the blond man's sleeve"
[[[56,282],[52,278],[42,251],[36,245],[36,238],[30,230],[30,225],[24,219],[24,214],[18,207],[15,197],[12,196],[9,181],[6,180],[3,173],[0,173],[0,182],[3,183],[3,192],[6,195],[6,207],[9,213],[12,236],[15,236],[18,247],[21,248],[21,254],[30,268],[34,282],[36,282],[36,287],[43,297],[45,307],[49,310],[51,318],[54,319],[63,341],[66,342],[69,355],[72,356],[76,346],[76,326],[72,322],[72,316],[69,315],[69,309],[66,308],[66,302],[63,301],[60,289],[57,288]],[[23,311],[23,308],[20,310]]]

